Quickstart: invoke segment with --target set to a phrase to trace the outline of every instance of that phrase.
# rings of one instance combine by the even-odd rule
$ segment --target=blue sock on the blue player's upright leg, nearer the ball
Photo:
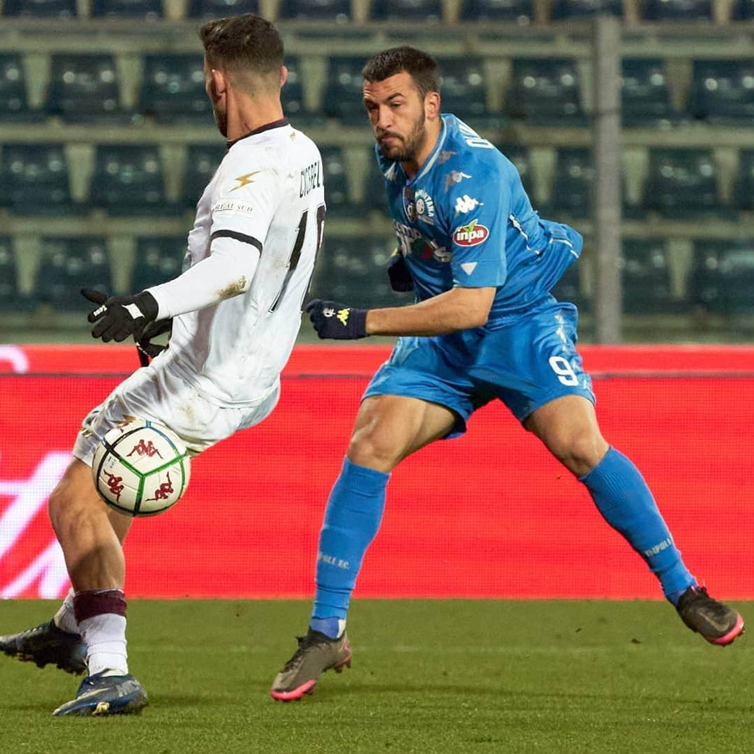
[[[375,538],[390,474],[348,458],[330,492],[317,552],[317,591],[311,627],[335,639],[345,621],[366,548]]]

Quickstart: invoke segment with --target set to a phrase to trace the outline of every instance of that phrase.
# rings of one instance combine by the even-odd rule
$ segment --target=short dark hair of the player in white
[[[265,74],[283,65],[280,34],[268,20],[253,13],[207,21],[199,37],[212,66]]]

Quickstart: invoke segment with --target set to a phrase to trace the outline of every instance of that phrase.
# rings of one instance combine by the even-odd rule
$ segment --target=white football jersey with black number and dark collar
[[[186,266],[241,248],[256,269],[218,291],[219,303],[173,317],[154,366],[217,403],[264,400],[299,332],[324,216],[322,158],[308,136],[277,121],[232,143],[198,202]]]

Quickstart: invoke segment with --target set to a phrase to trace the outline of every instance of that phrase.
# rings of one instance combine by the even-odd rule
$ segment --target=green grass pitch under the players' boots
[[[0,608],[11,633],[55,603]],[[0,752],[754,752],[751,640],[708,645],[664,602],[357,600],[351,670],[274,702],[308,608],[133,600],[140,716],[53,718],[78,679],[0,656]]]

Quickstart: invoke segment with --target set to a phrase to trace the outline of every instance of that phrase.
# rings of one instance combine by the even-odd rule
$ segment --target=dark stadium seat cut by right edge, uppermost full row
[[[754,58],[694,60],[689,112],[714,124],[751,124],[754,118]]]

